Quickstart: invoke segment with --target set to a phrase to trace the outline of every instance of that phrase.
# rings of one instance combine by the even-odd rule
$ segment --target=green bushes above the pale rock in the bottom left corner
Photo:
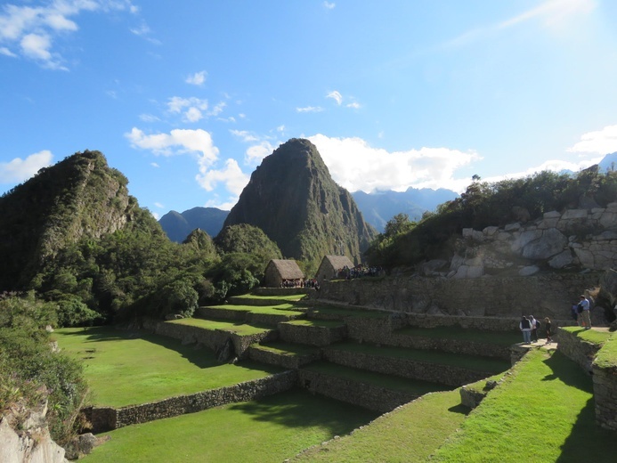
[[[82,425],[87,387],[81,363],[52,352],[45,326],[54,323],[56,310],[32,294],[0,298],[0,416],[46,398],[50,432],[62,444]]]

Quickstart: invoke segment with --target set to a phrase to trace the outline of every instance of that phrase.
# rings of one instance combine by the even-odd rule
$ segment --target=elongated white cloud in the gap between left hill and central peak
[[[218,148],[212,142],[212,137],[202,129],[175,129],[169,134],[147,135],[133,127],[125,136],[133,148],[150,150],[160,156],[195,153],[199,156],[199,164],[206,166],[218,158]]]

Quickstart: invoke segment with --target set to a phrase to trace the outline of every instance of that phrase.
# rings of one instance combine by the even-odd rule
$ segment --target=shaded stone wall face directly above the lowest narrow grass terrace
[[[422,361],[410,361],[394,357],[382,357],[367,353],[345,352],[324,349],[326,360],[358,370],[369,370],[402,378],[421,379],[446,386],[463,386],[491,376],[491,372],[465,370],[450,365],[435,365]]]

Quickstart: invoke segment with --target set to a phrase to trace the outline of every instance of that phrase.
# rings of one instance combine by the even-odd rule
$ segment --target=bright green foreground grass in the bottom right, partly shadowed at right
[[[615,461],[614,433],[595,423],[591,378],[561,353],[528,353],[431,461]]]

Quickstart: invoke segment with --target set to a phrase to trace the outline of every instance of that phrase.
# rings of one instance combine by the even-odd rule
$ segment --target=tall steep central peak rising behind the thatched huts
[[[224,226],[237,223],[261,228],[284,256],[308,261],[345,254],[360,262],[376,235],[303,139],[280,145],[256,168]]]

